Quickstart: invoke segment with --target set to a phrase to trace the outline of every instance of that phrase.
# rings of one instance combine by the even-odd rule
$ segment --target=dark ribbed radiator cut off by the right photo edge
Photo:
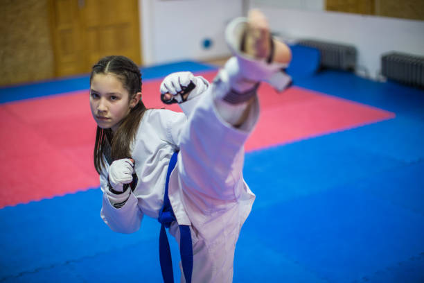
[[[381,57],[382,76],[414,87],[424,87],[424,57],[390,52]]]

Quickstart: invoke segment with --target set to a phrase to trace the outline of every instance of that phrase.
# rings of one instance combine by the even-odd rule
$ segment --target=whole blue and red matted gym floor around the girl
[[[164,107],[161,79],[183,70],[212,80],[217,66],[142,68],[148,107]],[[424,282],[424,90],[293,77],[280,94],[260,87],[234,282]],[[159,223],[117,234],[100,219],[88,88],[88,76],[0,88],[0,282],[161,282]]]

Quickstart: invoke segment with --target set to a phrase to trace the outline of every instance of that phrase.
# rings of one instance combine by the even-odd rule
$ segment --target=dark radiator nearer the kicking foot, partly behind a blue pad
[[[321,68],[355,70],[355,46],[319,40],[299,40],[297,44],[318,49],[321,53]]]

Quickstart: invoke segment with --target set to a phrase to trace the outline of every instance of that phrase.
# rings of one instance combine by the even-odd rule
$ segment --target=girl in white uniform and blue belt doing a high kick
[[[233,20],[225,36],[234,56],[211,85],[190,72],[161,83],[162,101],[184,113],[146,109],[140,71],[123,56],[103,58],[91,72],[101,217],[122,233],[139,230],[145,215],[159,220],[165,282],[173,282],[165,228],[179,243],[182,282],[232,281],[236,242],[255,198],[242,166],[259,114],[256,89],[260,81],[279,90],[290,82],[283,73],[290,50],[270,37],[260,12]]]

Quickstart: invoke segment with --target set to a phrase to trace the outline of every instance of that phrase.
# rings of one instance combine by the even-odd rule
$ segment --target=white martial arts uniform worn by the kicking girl
[[[242,178],[242,166],[243,144],[258,119],[258,101],[254,98],[247,119],[234,128],[213,103],[213,92],[224,91],[222,85],[210,85],[200,96],[180,104],[184,114],[145,112],[132,144],[138,184],[134,191],[127,190],[129,196],[121,208],[114,207],[114,196],[107,189],[107,164],[100,174],[103,221],[116,232],[132,233],[139,230],[144,214],[158,218],[168,163],[179,150],[170,175],[169,199],[178,224],[191,225],[193,283],[232,282],[236,241],[255,198]],[[179,243],[177,223],[171,225],[170,233]]]

